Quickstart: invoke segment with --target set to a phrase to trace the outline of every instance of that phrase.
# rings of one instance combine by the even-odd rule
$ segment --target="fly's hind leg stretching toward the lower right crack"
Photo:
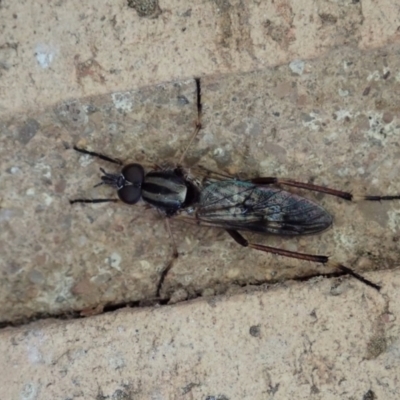
[[[251,249],[265,251],[266,253],[278,254],[278,255],[284,256],[284,257],[297,258],[300,260],[308,260],[308,261],[312,261],[312,262],[321,263],[321,264],[327,265],[328,267],[336,268],[346,274],[349,274],[349,275],[353,276],[354,278],[358,279],[359,281],[365,283],[368,286],[373,287],[374,289],[376,289],[378,291],[380,290],[380,286],[378,286],[377,284],[369,281],[368,279],[364,278],[362,275],[357,274],[357,272],[354,272],[351,268],[345,267],[344,265],[339,264],[336,261],[330,260],[329,257],[327,257],[327,256],[318,256],[318,255],[312,255],[312,254],[297,253],[294,251],[277,249],[276,247],[263,246],[261,244],[256,244],[256,243],[249,243],[238,231],[235,231],[233,229],[227,229],[226,231],[229,233],[229,235],[231,235],[231,237],[235,240],[235,242],[240,244],[241,246],[250,247]]]

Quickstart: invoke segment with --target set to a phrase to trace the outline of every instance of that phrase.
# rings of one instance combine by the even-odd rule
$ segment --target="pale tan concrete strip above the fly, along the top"
[[[0,114],[399,38],[390,0],[168,0],[160,7],[157,18],[144,18],[122,0],[2,1]]]

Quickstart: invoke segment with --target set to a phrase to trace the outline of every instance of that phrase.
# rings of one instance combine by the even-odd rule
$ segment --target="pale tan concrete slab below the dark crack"
[[[2,398],[396,399],[400,276],[369,277],[9,328]]]

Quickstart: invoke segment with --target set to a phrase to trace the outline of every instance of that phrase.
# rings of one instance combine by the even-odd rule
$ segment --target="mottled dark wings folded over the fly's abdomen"
[[[307,235],[332,224],[331,215],[311,200],[238,180],[206,184],[195,216],[200,224],[273,235]]]

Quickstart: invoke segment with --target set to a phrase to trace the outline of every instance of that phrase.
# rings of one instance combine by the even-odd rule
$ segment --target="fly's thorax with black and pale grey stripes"
[[[174,170],[149,172],[142,185],[142,199],[167,215],[184,206],[187,193],[185,179]]]

